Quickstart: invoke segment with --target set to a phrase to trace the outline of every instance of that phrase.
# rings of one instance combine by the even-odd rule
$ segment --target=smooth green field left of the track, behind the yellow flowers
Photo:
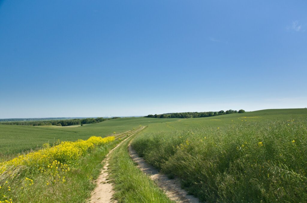
[[[19,153],[27,153],[31,149],[36,150],[44,143],[52,145],[58,139],[76,141],[86,140],[93,135],[105,137],[113,132],[120,133],[138,128],[139,125],[171,120],[143,117],[120,118],[78,127],[0,125],[0,161],[11,159]]]

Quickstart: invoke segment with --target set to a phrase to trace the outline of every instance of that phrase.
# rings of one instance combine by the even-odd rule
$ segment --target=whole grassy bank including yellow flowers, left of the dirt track
[[[92,137],[5,162],[0,173],[0,202],[84,202],[95,187],[93,180],[103,167],[101,161],[119,142],[114,137]],[[50,160],[54,161],[48,164]]]

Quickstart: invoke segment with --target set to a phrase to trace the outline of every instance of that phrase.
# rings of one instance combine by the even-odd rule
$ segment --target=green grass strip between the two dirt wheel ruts
[[[119,202],[172,202],[162,190],[135,165],[128,154],[128,138],[111,154],[109,168]]]

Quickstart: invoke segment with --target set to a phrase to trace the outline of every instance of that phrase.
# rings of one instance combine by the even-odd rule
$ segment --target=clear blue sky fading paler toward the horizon
[[[0,118],[305,108],[306,10],[0,0]]]

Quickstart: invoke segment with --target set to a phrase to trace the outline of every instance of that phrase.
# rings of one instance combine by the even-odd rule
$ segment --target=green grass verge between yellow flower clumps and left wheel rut
[[[101,161],[120,141],[95,147],[67,172],[61,172],[59,164],[57,170],[60,178],[55,179],[54,174],[35,173],[22,167],[13,169],[18,177],[10,178],[9,174],[1,174],[0,202],[84,202],[95,187],[92,180],[98,177],[103,167]]]

